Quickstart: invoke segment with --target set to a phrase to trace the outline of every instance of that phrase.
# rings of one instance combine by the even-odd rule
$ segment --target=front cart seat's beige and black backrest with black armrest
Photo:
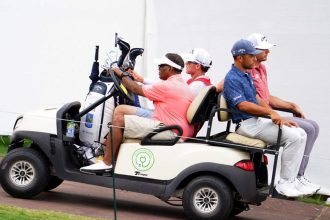
[[[212,111],[212,107],[216,105],[217,92],[214,86],[207,86],[203,88],[198,95],[194,98],[187,110],[187,120],[190,124],[203,125],[208,120],[208,117]],[[199,126],[198,126],[199,127]],[[155,140],[152,139],[157,132],[165,130],[175,129],[178,131],[178,135],[175,139],[170,140]],[[166,126],[163,128],[156,129],[154,132],[148,134],[141,141],[141,145],[174,145],[177,143],[182,136],[182,128],[178,125]],[[188,138],[189,141],[189,138]]]

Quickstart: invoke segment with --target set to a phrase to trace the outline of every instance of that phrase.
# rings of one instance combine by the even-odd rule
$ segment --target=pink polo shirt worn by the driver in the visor
[[[194,127],[187,121],[187,110],[194,95],[180,74],[152,85],[143,85],[142,90],[154,103],[152,119],[161,121],[167,126],[179,125],[183,130],[184,140],[186,137],[192,137]]]

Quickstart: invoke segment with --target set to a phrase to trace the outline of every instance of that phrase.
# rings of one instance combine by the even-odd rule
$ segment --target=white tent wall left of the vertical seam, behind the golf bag
[[[144,47],[144,25],[144,0],[1,1],[0,110],[20,113],[83,100],[95,45],[100,64],[114,48],[116,32]],[[0,132],[11,132],[16,116],[0,117]]]

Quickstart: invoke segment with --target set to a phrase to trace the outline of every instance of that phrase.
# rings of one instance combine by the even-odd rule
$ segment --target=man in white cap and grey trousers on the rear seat
[[[307,134],[306,146],[304,150],[304,156],[300,163],[299,172],[297,176],[297,189],[306,194],[313,194],[320,189],[319,185],[311,183],[304,173],[309,161],[309,156],[313,149],[316,138],[319,133],[319,126],[315,121],[306,119],[300,107],[293,103],[273,96],[269,92],[267,81],[267,70],[262,62],[267,60],[269,49],[276,46],[273,43],[268,42],[267,38],[260,33],[253,33],[248,37],[248,40],[254,45],[254,47],[262,52],[256,55],[257,62],[255,68],[249,71],[253,77],[254,86],[261,99],[263,99],[269,106],[273,108],[287,109],[294,112],[295,117],[288,117],[290,120],[296,122],[299,127],[305,130]],[[280,180],[281,181],[281,180]]]

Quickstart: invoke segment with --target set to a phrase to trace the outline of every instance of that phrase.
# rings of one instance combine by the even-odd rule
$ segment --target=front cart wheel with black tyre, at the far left
[[[0,165],[2,188],[13,197],[32,198],[44,191],[49,182],[49,166],[32,148],[17,148]]]

